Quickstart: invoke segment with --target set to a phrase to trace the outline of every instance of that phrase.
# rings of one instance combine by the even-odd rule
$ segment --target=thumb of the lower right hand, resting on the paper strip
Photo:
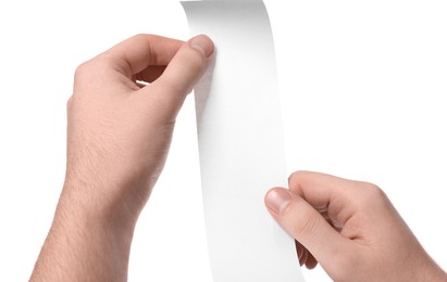
[[[323,266],[338,261],[346,254],[349,241],[342,236],[302,197],[287,189],[274,188],[265,195],[272,217]]]

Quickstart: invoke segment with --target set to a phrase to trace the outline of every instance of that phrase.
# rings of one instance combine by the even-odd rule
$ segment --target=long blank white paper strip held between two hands
[[[215,282],[303,281],[288,236],[263,197],[286,185],[281,101],[262,1],[182,2],[191,34],[215,43],[195,89],[204,217]]]

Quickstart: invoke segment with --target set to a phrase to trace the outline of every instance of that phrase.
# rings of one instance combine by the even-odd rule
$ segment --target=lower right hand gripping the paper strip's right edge
[[[299,171],[265,204],[297,240],[300,264],[319,261],[334,281],[447,281],[374,184]]]

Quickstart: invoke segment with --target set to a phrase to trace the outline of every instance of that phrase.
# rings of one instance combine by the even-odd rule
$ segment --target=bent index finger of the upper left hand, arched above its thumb
[[[148,66],[165,66],[184,42],[156,35],[136,35],[101,53],[114,70],[132,77]]]

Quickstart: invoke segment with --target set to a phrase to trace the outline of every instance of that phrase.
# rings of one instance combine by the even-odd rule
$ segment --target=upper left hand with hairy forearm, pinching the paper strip
[[[77,68],[65,183],[33,281],[126,280],[136,220],[212,53],[207,36],[138,35]]]

